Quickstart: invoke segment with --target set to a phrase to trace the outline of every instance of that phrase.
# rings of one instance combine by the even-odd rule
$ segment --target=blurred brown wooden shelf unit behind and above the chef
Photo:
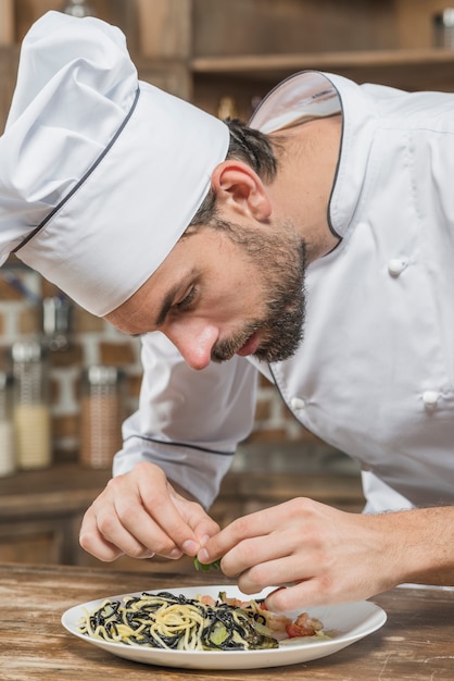
[[[433,48],[440,0],[136,0],[139,72],[182,66],[175,94],[249,119],[305,69],[408,90],[454,90],[454,51]],[[185,77],[186,70],[186,77]]]

